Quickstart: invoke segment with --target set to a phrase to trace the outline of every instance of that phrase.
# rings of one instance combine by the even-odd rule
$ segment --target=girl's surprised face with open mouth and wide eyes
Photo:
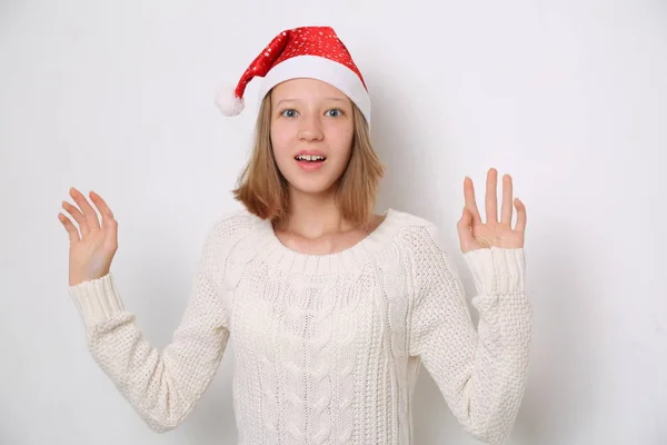
[[[352,103],[316,79],[292,79],[271,91],[271,145],[291,188],[307,194],[336,189],[351,156]]]

